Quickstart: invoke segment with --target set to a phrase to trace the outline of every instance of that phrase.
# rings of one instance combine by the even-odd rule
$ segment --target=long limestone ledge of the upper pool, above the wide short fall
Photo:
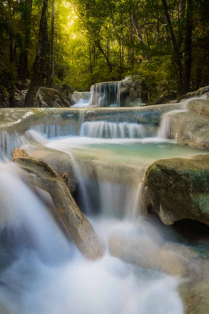
[[[22,134],[31,126],[73,123],[79,131],[85,121],[106,120],[159,125],[161,115],[181,105],[159,105],[131,108],[0,108],[0,130]]]

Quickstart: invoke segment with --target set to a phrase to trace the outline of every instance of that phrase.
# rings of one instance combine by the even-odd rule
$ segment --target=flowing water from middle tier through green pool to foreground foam
[[[109,252],[117,232],[146,236],[155,246],[178,241],[170,228],[140,217],[140,191],[146,167],[157,159],[208,154],[158,137],[128,122],[84,122],[53,131],[37,126],[9,136],[3,132],[0,163],[1,257],[0,301],[10,314],[183,314],[179,279],[160,270],[127,263]],[[19,146],[39,143],[71,156],[77,189],[74,197],[106,243],[105,256],[86,261],[66,235],[47,192],[28,185],[25,172],[11,159]],[[62,162],[62,161],[60,161]],[[143,255],[143,252],[139,252]],[[5,264],[4,263],[4,264]]]

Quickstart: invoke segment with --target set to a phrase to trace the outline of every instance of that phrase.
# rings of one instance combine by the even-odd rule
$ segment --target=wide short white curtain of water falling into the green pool
[[[83,122],[80,136],[90,138],[143,138],[144,128],[141,124],[128,122]]]

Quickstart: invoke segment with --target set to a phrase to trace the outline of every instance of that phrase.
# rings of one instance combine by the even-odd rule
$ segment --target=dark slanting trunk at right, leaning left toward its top
[[[172,40],[172,44],[173,44],[173,50],[174,50],[174,54],[175,54],[175,60],[178,66],[178,71],[179,71],[179,96],[184,95],[185,94],[185,82],[184,82],[184,71],[183,71],[183,67],[182,67],[182,63],[181,63],[181,57],[179,54],[179,48],[176,42],[176,38],[173,32],[173,26],[171,24],[171,19],[168,13],[168,5],[167,5],[167,0],[161,0],[164,11],[165,11],[165,17],[167,19],[168,22],[168,27],[169,27],[169,31],[170,31],[170,35],[171,35],[171,40]]]

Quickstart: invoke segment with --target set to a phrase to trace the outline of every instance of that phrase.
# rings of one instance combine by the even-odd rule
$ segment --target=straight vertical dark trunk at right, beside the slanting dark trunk
[[[192,55],[192,15],[193,15],[193,0],[187,0],[187,20],[185,33],[185,89],[186,93],[190,91],[190,75],[191,75],[191,55]]]

